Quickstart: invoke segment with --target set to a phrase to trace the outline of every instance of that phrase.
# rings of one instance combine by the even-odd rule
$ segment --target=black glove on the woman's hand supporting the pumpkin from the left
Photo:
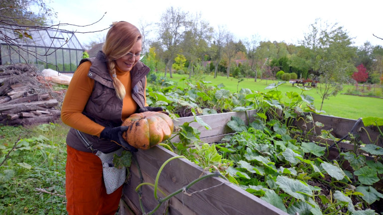
[[[129,145],[124,138],[122,138],[122,132],[128,130],[128,126],[119,126],[119,127],[105,127],[104,130],[100,133],[100,138],[110,139],[111,141],[117,143],[117,145],[122,146],[124,149],[137,152],[137,149]]]

